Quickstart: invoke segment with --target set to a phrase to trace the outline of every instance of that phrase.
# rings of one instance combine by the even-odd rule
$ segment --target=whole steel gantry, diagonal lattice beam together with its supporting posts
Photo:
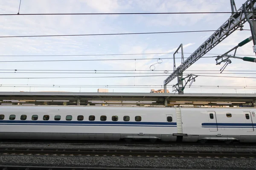
[[[234,0],[230,0],[232,15],[230,18],[222,24],[199,48],[196,49],[185,61],[182,61],[181,65],[176,68],[174,66],[174,71],[169,77],[164,80],[164,91],[167,91],[167,84],[171,82],[175,77],[178,81],[178,94],[183,94],[183,71],[189,68],[194,62],[204,56],[212,48],[218,45],[221,41],[227,38],[230,34],[240,28],[242,30],[243,24],[248,22],[250,24],[250,29],[252,33],[253,45],[256,49],[256,20],[254,13],[256,12],[256,0],[247,0],[241,8],[236,10],[236,5]],[[179,49],[179,48],[178,48]],[[255,51],[256,52],[256,51]]]

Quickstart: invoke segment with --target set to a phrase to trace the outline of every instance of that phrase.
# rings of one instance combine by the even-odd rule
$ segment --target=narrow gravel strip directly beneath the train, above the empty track
[[[125,145],[92,145],[92,144],[0,144],[0,147],[39,147],[39,148],[66,148],[66,149],[145,149],[145,150],[190,150],[190,151],[256,151],[256,147],[208,147],[208,146],[125,146]]]

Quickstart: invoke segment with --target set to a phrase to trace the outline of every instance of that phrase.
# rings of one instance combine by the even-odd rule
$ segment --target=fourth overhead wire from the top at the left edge
[[[211,57],[201,57],[201,58],[212,58]],[[188,57],[184,57],[188,58]],[[0,61],[0,62],[66,62],[66,61],[125,61],[125,60],[151,60],[151,59],[173,59],[173,57],[168,58],[139,58],[139,59],[59,59],[59,60],[18,60],[18,61]],[[181,59],[181,57],[175,57],[175,59]]]

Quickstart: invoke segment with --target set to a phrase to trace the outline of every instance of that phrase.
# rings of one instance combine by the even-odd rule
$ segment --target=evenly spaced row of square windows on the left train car
[[[14,114],[9,116],[9,120],[15,120],[15,118],[16,118],[16,115],[14,115]],[[49,120],[49,118],[50,118],[49,115],[44,115],[43,116],[43,120]],[[68,120],[68,121],[72,120],[72,118],[73,117],[71,115],[67,115],[66,116],[66,120]],[[3,119],[4,119],[4,115],[1,114],[0,115],[0,120],[3,120]],[[26,119],[27,119],[26,115],[21,115],[20,116],[20,120],[26,120]],[[37,120],[38,119],[38,115],[32,115],[31,119],[32,120]],[[60,115],[54,116],[54,120],[60,120],[60,119],[61,119]],[[84,116],[83,115],[77,116],[77,120],[78,121],[84,120]],[[94,121],[94,120],[95,120],[95,116],[90,115],[89,116],[89,121]],[[100,120],[101,121],[106,121],[107,120],[107,116],[100,116]],[[130,116],[124,116],[123,120],[125,122],[130,121]],[[112,121],[118,121],[118,116],[112,116]],[[135,121],[140,122],[141,121],[141,116],[135,116]]]

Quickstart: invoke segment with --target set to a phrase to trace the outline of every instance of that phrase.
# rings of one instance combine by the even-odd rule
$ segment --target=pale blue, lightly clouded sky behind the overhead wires
[[[19,3],[20,0],[0,0],[0,14],[17,14]],[[240,8],[242,4],[245,3],[245,0],[235,0],[235,3],[236,7]],[[21,0],[20,4],[20,14],[220,11],[231,11],[230,0]],[[114,34],[216,30],[226,20],[228,20],[229,17],[230,14],[0,16],[0,36]],[[244,29],[249,29],[248,23],[244,24]],[[0,91],[97,92],[98,88],[104,88],[108,89],[108,91],[111,93],[149,93],[151,89],[158,90],[163,88],[163,81],[173,71],[173,54],[111,54],[171,53],[175,52],[179,45],[182,43],[183,51],[184,53],[186,53],[184,54],[184,57],[189,57],[189,53],[194,52],[205,40],[207,40],[207,38],[212,33],[213,32],[194,32],[175,34],[1,38]],[[216,56],[213,54],[223,54],[224,52],[230,50],[239,42],[250,36],[250,31],[235,31],[224,41],[219,43],[215,48],[209,51],[207,55],[204,56],[208,56],[208,58],[199,59],[183,74],[196,74],[205,76],[256,77],[256,72],[253,72],[256,71],[256,68],[254,68],[256,64],[253,62],[245,62],[241,59],[231,59],[232,63],[227,65],[225,71],[220,74],[219,70],[224,65],[224,63],[221,63],[221,65],[216,65],[215,57],[212,57]],[[110,55],[72,56],[90,54]],[[231,52],[230,54],[233,54],[233,52]],[[240,54],[241,56],[239,57],[253,57],[249,56],[255,55],[255,53],[253,53],[253,42],[251,41],[246,45],[238,48],[236,54]],[[20,56],[13,57],[12,55]],[[22,55],[30,55],[30,57],[24,57]],[[42,57],[38,55],[70,56]],[[175,57],[178,57],[178,59],[176,59],[176,67],[178,67],[181,63],[181,59],[179,58],[181,57],[180,51],[178,54],[175,55]],[[155,64],[157,63],[158,58],[169,59],[162,59],[162,63]],[[132,60],[24,62],[26,60],[81,59]],[[158,62],[159,61],[160,60],[158,60]],[[150,66],[153,64],[155,64],[155,69],[154,71],[151,71],[152,67]],[[163,70],[168,70],[169,72],[165,74],[163,73]],[[236,73],[239,74],[233,74],[234,71],[238,71]],[[150,75],[154,75],[154,77],[136,77]],[[156,77],[157,75],[163,76]],[[20,77],[24,79],[9,79],[15,77]],[[43,77],[48,78],[42,79]],[[70,78],[49,79],[49,77]],[[172,92],[172,85],[175,85],[176,83],[177,78],[175,78],[174,80],[172,80],[172,82],[168,84],[168,90],[171,93],[174,93]],[[184,93],[252,94],[256,93],[255,83],[256,79],[253,78],[198,76],[190,88],[186,86]],[[212,87],[210,88],[209,86]]]

